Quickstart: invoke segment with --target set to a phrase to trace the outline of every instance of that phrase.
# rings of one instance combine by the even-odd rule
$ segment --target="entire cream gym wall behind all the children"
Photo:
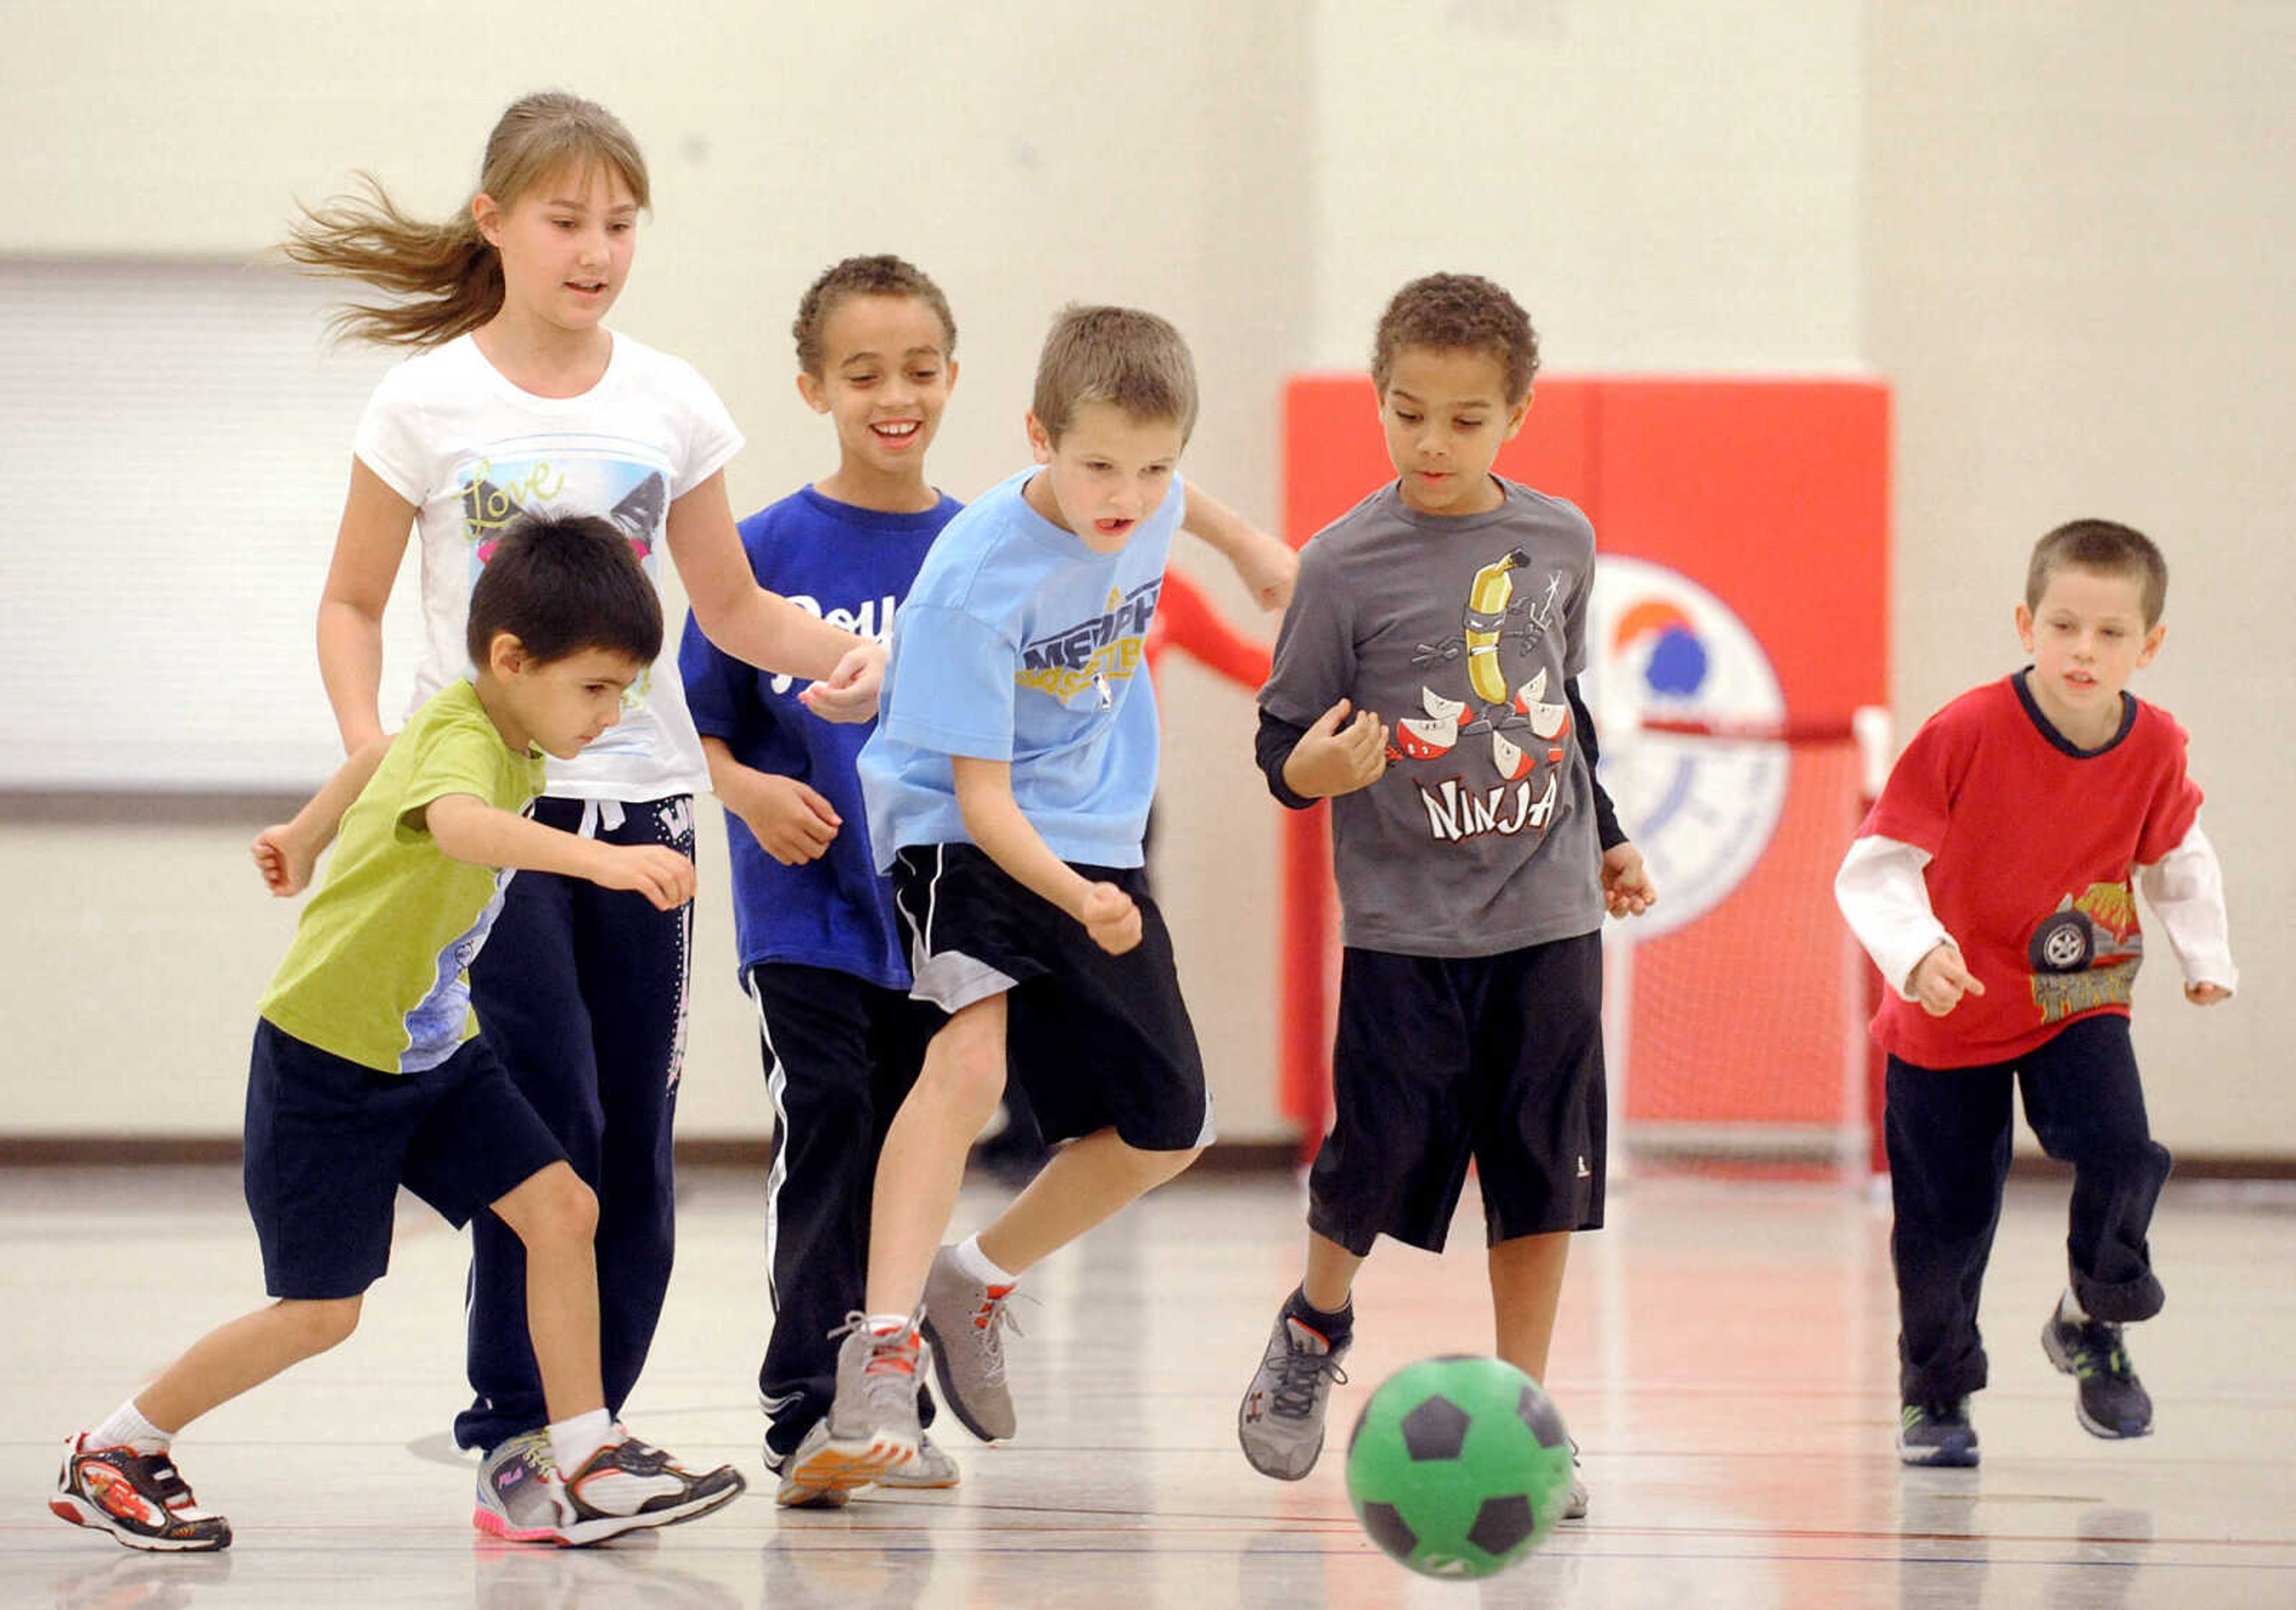
[[[370,168],[443,211],[496,110],[537,85],[636,129],[654,218],[615,322],[693,358],[751,446],[735,501],[827,469],[790,390],[788,317],[854,250],[951,292],[964,377],[937,478],[1017,464],[1026,377],[1068,299],[1189,331],[1189,473],[1277,521],[1277,388],[1362,361],[1396,282],[1513,285],[1568,370],[1839,370],[1899,388],[1899,714],[1995,673],[2016,554],[2078,510],[2163,535],[2172,641],[2144,691],[2195,733],[2252,988],[2193,1013],[2147,978],[2140,1040],[2172,1146],[2296,1153],[2291,595],[2266,528],[2296,372],[2289,9],[2110,0],[2041,21],[1899,0],[1215,0],[468,9],[18,0],[0,60],[9,253],[246,255],[289,198]],[[344,439],[351,420],[342,423]],[[1534,416],[1536,429],[1536,416]],[[312,542],[333,510],[312,510]],[[1238,611],[1217,560],[1185,565]],[[46,602],[7,599],[7,609]],[[94,629],[94,627],[92,627]],[[2255,641],[2255,648],[2250,645]],[[2250,664],[2257,661],[2257,664]],[[2236,689],[2236,691],[2234,691]],[[1169,712],[1162,880],[1231,1137],[1270,1105],[1274,811],[1249,705],[1189,666]],[[2229,694],[2229,696],[2227,696]],[[707,813],[705,813],[707,815]],[[0,815],[11,1132],[232,1132],[246,1004],[287,932],[246,822]],[[709,880],[723,877],[707,825]],[[682,1132],[758,1132],[755,1052],[705,900]]]

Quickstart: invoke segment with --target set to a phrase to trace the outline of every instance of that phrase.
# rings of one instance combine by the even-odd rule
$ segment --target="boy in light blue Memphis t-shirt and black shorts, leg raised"
[[[1068,308],[1038,361],[1035,466],[948,524],[900,609],[859,765],[914,994],[948,1024],[884,1139],[863,1311],[824,1431],[790,1463],[806,1486],[861,1486],[916,1456],[928,1360],[967,1429],[1010,1438],[999,1332],[1017,1277],[1212,1135],[1171,939],[1141,882],[1157,769],[1141,645],[1187,512],[1178,459],[1194,420],[1171,324]],[[1201,514],[1192,528],[1281,606],[1290,549]],[[1045,1137],[1068,1146],[994,1224],[941,1247],[1008,1045]]]

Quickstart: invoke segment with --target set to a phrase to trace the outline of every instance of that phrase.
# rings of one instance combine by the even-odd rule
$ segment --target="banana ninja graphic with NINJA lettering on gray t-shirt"
[[[1444,779],[1437,788],[1419,783],[1428,825],[1437,838],[1472,838],[1483,831],[1543,829],[1554,811],[1557,776],[1564,763],[1564,740],[1570,730],[1570,705],[1548,698],[1548,671],[1508,691],[1502,645],[1529,650],[1554,622],[1561,606],[1564,576],[1550,574],[1543,595],[1518,597],[1515,576],[1529,567],[1522,549],[1508,549],[1474,572],[1460,613],[1460,634],[1440,643],[1419,643],[1412,666],[1433,671],[1465,661],[1467,698],[1449,698],[1421,684],[1424,717],[1398,717],[1387,744],[1389,765],[1403,760],[1442,760],[1463,737],[1490,737],[1490,765],[1497,788],[1467,776]],[[1545,760],[1545,792],[1534,799],[1531,774]]]

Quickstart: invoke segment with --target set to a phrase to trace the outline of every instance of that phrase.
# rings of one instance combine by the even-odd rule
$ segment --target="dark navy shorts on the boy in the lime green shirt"
[[[377,1073],[255,1024],[243,1171],[273,1298],[381,1279],[400,1185],[461,1229],[560,1160],[482,1038],[427,1073]]]

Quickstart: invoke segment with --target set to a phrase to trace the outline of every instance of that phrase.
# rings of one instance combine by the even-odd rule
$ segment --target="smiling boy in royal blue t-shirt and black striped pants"
[[[925,480],[925,448],[957,379],[957,326],[914,264],[847,257],[806,289],[792,335],[797,390],[836,425],[838,469],[744,519],[742,547],[760,586],[882,643],[962,508]],[[829,1332],[861,1302],[877,1146],[944,1015],[909,999],[893,889],[863,831],[854,760],[870,728],[810,714],[792,678],[735,659],[691,618],[677,671],[726,804],[742,985],[774,1102],[765,1463],[783,1474],[783,1507],[836,1507],[847,1488],[792,1481],[788,1463],[808,1435],[824,1435]],[[930,1399],[921,1417],[930,1424]],[[923,1440],[882,1479],[955,1486],[957,1465]]]

